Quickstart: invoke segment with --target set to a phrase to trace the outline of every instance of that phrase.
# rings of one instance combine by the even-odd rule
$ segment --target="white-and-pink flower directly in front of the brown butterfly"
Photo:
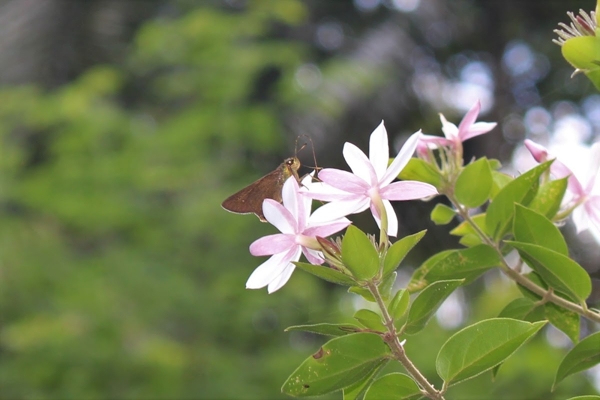
[[[312,177],[302,180],[302,185],[310,185]],[[265,218],[281,233],[270,234],[254,240],[250,245],[252,255],[271,255],[260,264],[248,278],[246,288],[259,289],[268,286],[269,293],[281,288],[292,276],[295,265],[304,253],[312,264],[322,264],[323,254],[315,236],[330,236],[343,230],[350,221],[347,218],[319,218],[310,215],[312,200],[299,194],[296,179],[290,177],[281,191],[283,205],[272,199],[263,201]]]

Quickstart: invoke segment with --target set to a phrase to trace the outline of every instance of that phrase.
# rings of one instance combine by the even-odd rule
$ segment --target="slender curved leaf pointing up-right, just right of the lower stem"
[[[414,335],[427,325],[427,322],[436,310],[442,305],[446,297],[457,287],[464,283],[464,279],[433,282],[424,288],[413,301],[409,309],[409,317],[402,329],[402,333]]]

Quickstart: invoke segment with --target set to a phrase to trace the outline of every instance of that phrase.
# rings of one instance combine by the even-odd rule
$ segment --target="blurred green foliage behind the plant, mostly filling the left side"
[[[352,314],[353,295],[307,273],[270,296],[244,290],[262,262],[247,246],[273,228],[220,209],[289,155],[282,113],[305,104],[291,88],[311,55],[274,32],[310,10],[200,5],[145,23],[121,64],[1,89],[0,398],[283,398],[322,342],[284,327]],[[505,290],[473,299],[475,317],[495,316]],[[427,376],[450,334],[430,324],[407,344]],[[547,392],[562,354],[539,339],[495,385],[449,394],[590,393],[583,375]]]

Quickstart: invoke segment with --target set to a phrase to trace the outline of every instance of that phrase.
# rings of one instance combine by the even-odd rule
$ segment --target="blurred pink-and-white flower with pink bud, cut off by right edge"
[[[600,236],[600,142],[594,143],[589,150],[589,164],[584,170],[587,176],[576,176],[565,164],[556,160],[548,150],[532,140],[526,139],[525,146],[538,163],[553,160],[550,173],[556,179],[568,178],[567,190],[571,194],[569,204],[577,205],[573,210],[573,222],[577,233],[593,228],[595,236]],[[586,157],[582,155],[582,161]],[[583,175],[583,174],[580,174]],[[581,179],[580,179],[581,178]]]

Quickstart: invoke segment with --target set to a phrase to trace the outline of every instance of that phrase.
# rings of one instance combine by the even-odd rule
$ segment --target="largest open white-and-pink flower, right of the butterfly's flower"
[[[301,189],[305,196],[331,201],[319,207],[313,215],[338,218],[370,207],[377,225],[381,227],[380,215],[385,209],[388,217],[387,233],[389,236],[396,236],[398,218],[389,201],[422,199],[437,194],[435,187],[423,182],[401,181],[392,184],[415,152],[419,136],[421,131],[409,137],[389,167],[388,133],[383,121],[371,134],[368,158],[361,149],[346,142],[343,154],[353,173],[324,169],[319,172],[319,179],[323,182],[314,182]]]

